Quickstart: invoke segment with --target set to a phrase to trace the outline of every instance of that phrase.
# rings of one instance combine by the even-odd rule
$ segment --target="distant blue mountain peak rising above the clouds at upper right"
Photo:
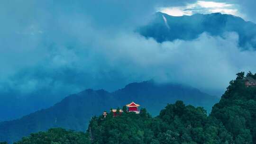
[[[151,22],[139,27],[137,31],[142,36],[153,37],[159,43],[175,39],[192,40],[203,32],[211,36],[236,32],[239,36],[239,46],[243,49],[250,46],[256,49],[256,24],[221,13],[174,17],[157,12]]]

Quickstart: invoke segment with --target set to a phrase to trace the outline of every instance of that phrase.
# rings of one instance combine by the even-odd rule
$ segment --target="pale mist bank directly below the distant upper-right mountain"
[[[104,57],[109,57],[106,60],[115,54],[110,63],[119,67],[124,75],[134,76],[135,80],[154,78],[205,90],[225,89],[236,72],[249,70],[254,65],[250,60],[256,56],[255,51],[238,49],[236,33],[227,33],[224,37],[204,33],[193,41],[163,44],[136,34],[125,34],[117,39],[106,39],[103,45],[111,45],[111,48],[105,47],[110,51],[110,55],[104,53]]]

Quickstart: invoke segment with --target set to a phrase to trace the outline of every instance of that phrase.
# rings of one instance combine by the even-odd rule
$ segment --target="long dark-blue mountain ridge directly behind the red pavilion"
[[[128,84],[125,88],[108,92],[84,90],[64,98],[61,102],[20,119],[0,123],[0,141],[12,143],[33,132],[46,131],[51,127],[63,127],[85,131],[92,116],[101,115],[110,108],[122,108],[135,101],[147,108],[153,116],[166,106],[183,100],[186,104],[202,106],[210,111],[219,99],[198,89],[181,84],[158,84],[144,81]]]

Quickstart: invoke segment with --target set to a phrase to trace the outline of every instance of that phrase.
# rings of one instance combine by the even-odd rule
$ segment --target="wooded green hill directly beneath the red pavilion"
[[[168,104],[158,117],[145,108],[140,114],[119,117],[93,117],[90,122],[92,144],[225,144],[232,137],[206,111],[183,101]]]

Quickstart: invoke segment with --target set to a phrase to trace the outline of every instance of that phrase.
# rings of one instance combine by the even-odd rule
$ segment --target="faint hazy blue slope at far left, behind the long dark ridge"
[[[49,90],[38,90],[26,94],[13,91],[0,91],[0,122],[14,120],[42,108],[49,108],[67,95],[62,91],[54,95]]]

